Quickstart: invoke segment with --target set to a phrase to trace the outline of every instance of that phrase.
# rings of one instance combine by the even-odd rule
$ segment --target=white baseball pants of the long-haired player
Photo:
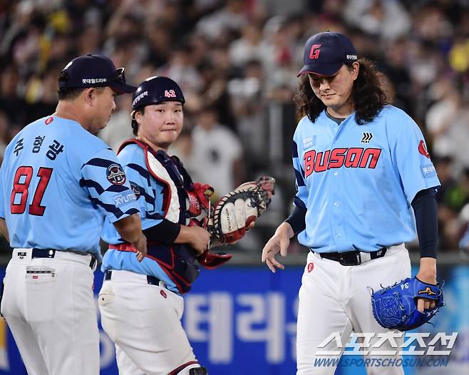
[[[404,245],[391,247],[384,257],[356,266],[343,266],[310,252],[299,289],[297,375],[334,374],[334,366],[314,366],[315,360],[340,357],[316,355],[318,350],[339,350],[335,340],[318,349],[333,332],[339,332],[344,346],[351,332],[390,332],[373,317],[368,287],[376,291],[381,289],[380,284],[387,287],[410,276],[411,261]],[[375,335],[371,345],[376,340]],[[400,346],[403,339],[396,339],[396,342]],[[389,341],[379,348],[382,351],[396,349]],[[397,366],[368,366],[366,371],[368,374],[403,374],[403,369]]]

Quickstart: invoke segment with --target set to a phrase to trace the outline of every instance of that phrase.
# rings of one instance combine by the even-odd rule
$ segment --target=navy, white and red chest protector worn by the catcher
[[[192,180],[180,161],[163,151],[155,151],[146,143],[130,139],[126,145],[135,143],[144,150],[145,164],[150,175],[163,185],[163,217],[171,222],[187,225],[190,217],[187,212],[187,189],[192,187]],[[119,151],[120,151],[119,150]],[[199,275],[195,263],[195,252],[187,245],[166,245],[161,242],[148,242],[148,257],[160,264],[160,267],[175,282],[180,293],[187,293]]]

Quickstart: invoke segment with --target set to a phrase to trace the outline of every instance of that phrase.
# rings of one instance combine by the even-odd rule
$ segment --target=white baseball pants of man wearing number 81
[[[90,261],[91,255],[72,252],[31,260],[31,249],[14,250],[1,314],[29,375],[99,374]]]

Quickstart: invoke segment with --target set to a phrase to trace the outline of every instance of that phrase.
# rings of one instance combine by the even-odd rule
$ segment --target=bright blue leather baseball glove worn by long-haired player
[[[373,315],[381,327],[408,331],[428,322],[443,307],[443,285],[427,284],[417,277],[408,277],[392,287],[371,294]],[[419,312],[416,299],[436,302],[435,307]]]

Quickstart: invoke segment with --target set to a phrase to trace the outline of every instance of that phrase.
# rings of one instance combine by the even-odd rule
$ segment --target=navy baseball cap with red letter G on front
[[[304,66],[297,77],[303,73],[320,76],[334,76],[344,63],[353,63],[358,59],[351,40],[344,34],[324,31],[311,36],[304,45]]]

